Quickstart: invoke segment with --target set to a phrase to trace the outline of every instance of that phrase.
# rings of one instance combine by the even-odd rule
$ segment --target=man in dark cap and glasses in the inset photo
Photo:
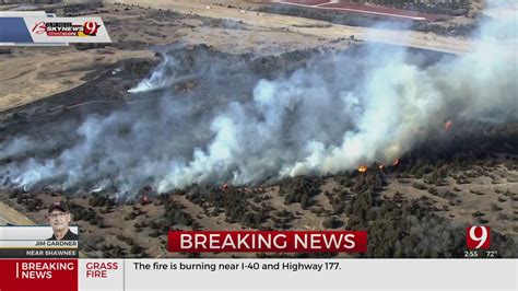
[[[78,234],[69,229],[71,214],[63,201],[54,202],[48,208],[48,222],[52,226],[54,234],[48,241],[78,241]]]

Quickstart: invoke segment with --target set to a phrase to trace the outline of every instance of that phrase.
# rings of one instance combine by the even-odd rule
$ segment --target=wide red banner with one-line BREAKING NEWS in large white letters
[[[169,252],[366,253],[365,231],[170,231]]]

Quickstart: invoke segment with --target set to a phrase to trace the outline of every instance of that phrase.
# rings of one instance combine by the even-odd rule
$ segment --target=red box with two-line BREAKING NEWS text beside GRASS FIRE
[[[0,259],[0,290],[78,291],[78,259]]]

